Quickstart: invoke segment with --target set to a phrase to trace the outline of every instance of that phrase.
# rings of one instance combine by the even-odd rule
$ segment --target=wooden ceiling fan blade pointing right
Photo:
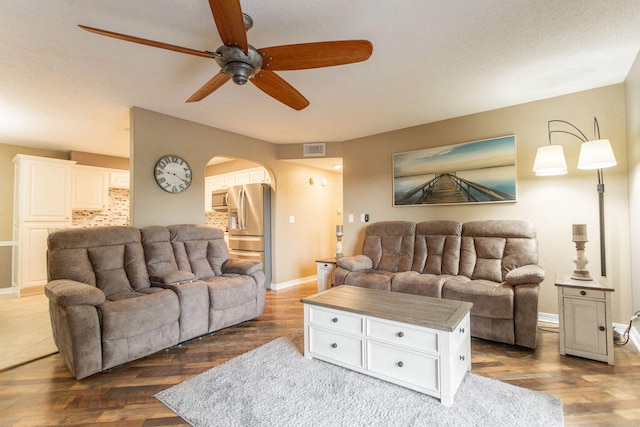
[[[266,47],[258,52],[264,58],[263,69],[305,70],[365,61],[373,45],[368,40],[341,40]]]

